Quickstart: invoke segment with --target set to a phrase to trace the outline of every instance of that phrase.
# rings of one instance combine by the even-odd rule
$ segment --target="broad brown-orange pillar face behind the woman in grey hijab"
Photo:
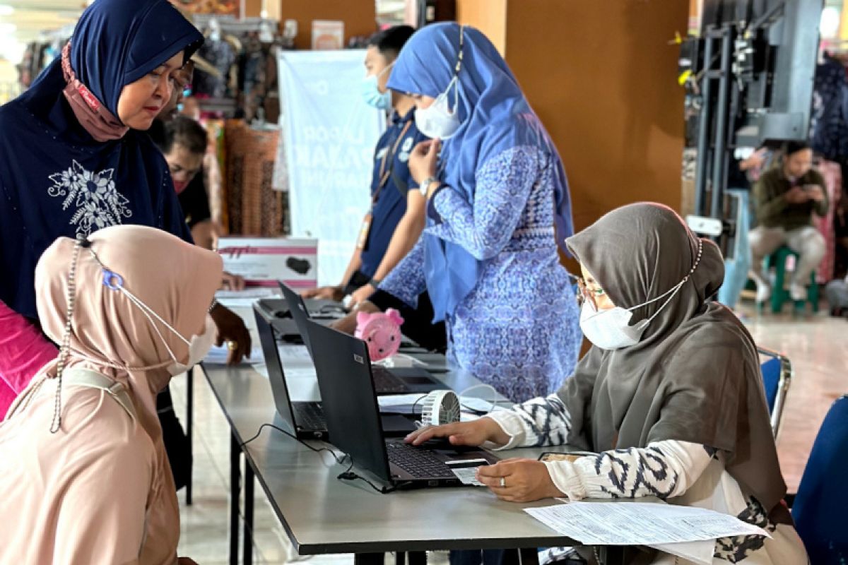
[[[510,0],[506,59],[554,138],[581,230],[628,202],[680,207],[680,0]]]

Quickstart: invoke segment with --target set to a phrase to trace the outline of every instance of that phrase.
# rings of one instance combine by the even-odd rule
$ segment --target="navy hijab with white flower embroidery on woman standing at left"
[[[124,86],[201,42],[168,0],[97,0],[70,40],[73,76],[66,80],[57,58],[0,108],[0,301],[36,318],[36,262],[59,236],[142,224],[191,241],[165,159],[115,116]],[[92,136],[87,119],[109,141]]]

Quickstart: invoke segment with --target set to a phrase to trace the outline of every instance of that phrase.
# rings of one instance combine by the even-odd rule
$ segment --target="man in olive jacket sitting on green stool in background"
[[[799,255],[789,295],[792,300],[806,300],[810,274],[826,251],[824,237],[812,226],[812,213],[822,217],[828,213],[824,179],[812,169],[810,146],[801,141],[787,143],[782,161],[757,180],[754,199],[757,227],[750,230],[748,239],[756,302],[766,302],[772,294],[762,261],[784,245]]]

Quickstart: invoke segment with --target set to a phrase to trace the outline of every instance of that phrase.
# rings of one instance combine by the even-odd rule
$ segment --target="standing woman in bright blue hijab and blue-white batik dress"
[[[426,289],[452,360],[511,400],[555,391],[582,335],[557,253],[573,229],[553,142],[504,59],[469,26],[416,32],[388,87],[415,98],[416,125],[432,141],[410,157],[427,228],[379,291],[414,305]]]

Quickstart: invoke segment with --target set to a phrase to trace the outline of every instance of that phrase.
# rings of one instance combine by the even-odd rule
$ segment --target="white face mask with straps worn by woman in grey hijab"
[[[583,335],[585,335],[586,339],[591,341],[594,346],[600,347],[601,349],[613,350],[622,349],[622,347],[635,346],[639,343],[639,340],[642,339],[642,334],[644,334],[644,330],[648,328],[648,324],[660,315],[662,310],[668,306],[669,302],[672,302],[674,296],[681,288],[683,288],[683,285],[687,280],[689,280],[689,277],[695,273],[695,269],[697,269],[698,263],[700,263],[700,255],[702,251],[703,242],[699,241],[698,256],[695,258],[695,265],[689,270],[689,274],[683,277],[683,280],[672,287],[670,291],[667,291],[661,296],[657,296],[648,302],[643,302],[630,308],[616,306],[608,310],[599,310],[597,312],[595,312],[594,308],[588,301],[583,302],[583,307],[580,310],[580,330],[583,330]],[[636,324],[630,325],[630,319],[633,318],[633,310],[662,300],[668,295],[672,296],[668,297],[665,304],[663,304],[653,316],[643,319]]]

